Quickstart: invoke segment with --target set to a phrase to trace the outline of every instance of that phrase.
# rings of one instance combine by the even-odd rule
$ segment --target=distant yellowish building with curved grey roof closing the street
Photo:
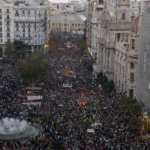
[[[52,31],[84,31],[86,17],[78,13],[60,13],[52,16]]]

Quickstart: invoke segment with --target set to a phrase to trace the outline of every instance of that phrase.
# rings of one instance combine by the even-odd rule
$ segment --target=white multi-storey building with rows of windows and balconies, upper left
[[[29,51],[42,50],[49,39],[51,12],[48,1],[15,0],[0,2],[2,36],[1,50],[10,40],[20,40],[29,45]],[[1,54],[2,55],[2,54]]]

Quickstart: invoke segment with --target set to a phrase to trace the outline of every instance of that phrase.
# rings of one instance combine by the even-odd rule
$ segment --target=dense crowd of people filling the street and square
[[[12,141],[1,140],[5,150],[150,150],[150,141],[129,128],[130,115],[120,109],[121,94],[104,94],[85,67],[74,37],[60,34],[59,51],[49,53],[49,71],[42,83],[41,106],[22,105],[24,86],[13,61],[1,61],[0,118],[13,117],[39,121],[41,134]],[[66,48],[71,43],[73,47]],[[63,48],[63,50],[61,49]]]

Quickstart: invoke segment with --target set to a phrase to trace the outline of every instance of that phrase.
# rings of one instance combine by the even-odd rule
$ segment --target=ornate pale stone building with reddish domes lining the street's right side
[[[139,13],[132,22],[130,0],[115,3],[115,16],[107,9],[107,0],[103,2],[103,11],[98,13],[96,6],[93,10],[91,47],[96,59],[93,73],[95,77],[106,75],[114,81],[117,91],[136,98],[141,5],[138,3]]]

